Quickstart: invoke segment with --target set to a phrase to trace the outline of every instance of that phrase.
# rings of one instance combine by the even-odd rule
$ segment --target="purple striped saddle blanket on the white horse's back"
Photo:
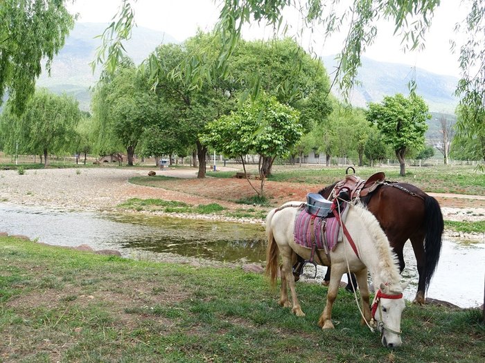
[[[347,210],[348,208],[344,208],[341,213],[342,222],[346,219]],[[312,248],[313,243],[316,243],[317,249],[325,250],[325,253],[333,251],[340,232],[337,218],[321,218],[309,214],[305,208],[297,213],[294,220],[294,241],[306,248]]]

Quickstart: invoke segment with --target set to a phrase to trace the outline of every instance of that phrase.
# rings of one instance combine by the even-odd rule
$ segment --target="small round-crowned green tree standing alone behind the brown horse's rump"
[[[370,103],[367,120],[376,124],[387,144],[392,145],[400,165],[400,175],[406,175],[405,155],[409,148],[421,147],[430,119],[427,105],[417,95],[404,97],[400,93],[386,96],[382,103]]]

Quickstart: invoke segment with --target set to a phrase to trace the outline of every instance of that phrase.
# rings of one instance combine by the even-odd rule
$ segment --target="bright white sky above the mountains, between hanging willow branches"
[[[345,0],[342,1],[345,3]],[[214,0],[138,0],[135,3],[135,21],[138,26],[167,32],[179,41],[195,35],[197,28],[212,30],[218,20],[218,3]],[[350,3],[350,1],[349,1]],[[71,12],[79,14],[81,22],[108,22],[116,15],[121,0],[75,0],[69,5]],[[296,15],[288,13],[298,28]],[[442,0],[437,8],[430,31],[426,35],[425,50],[403,53],[400,37],[393,35],[394,27],[385,21],[379,22],[378,38],[364,53],[365,57],[380,62],[408,64],[432,73],[459,77],[458,55],[450,50],[450,39],[456,39],[455,24],[466,15],[466,8],[459,0]],[[291,32],[291,30],[290,30]],[[310,34],[307,32],[307,35]],[[245,29],[245,39],[261,39],[272,35],[267,28],[252,25]],[[318,55],[337,54],[344,37],[335,35],[325,42],[319,32],[311,39],[303,37],[301,45]],[[460,39],[457,39],[458,43]]]

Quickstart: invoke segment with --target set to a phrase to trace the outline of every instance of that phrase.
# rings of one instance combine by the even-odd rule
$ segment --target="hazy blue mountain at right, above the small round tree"
[[[323,57],[322,60],[330,77],[337,66],[335,56]],[[360,82],[351,95],[351,104],[366,107],[368,102],[381,102],[385,95],[409,93],[407,84],[412,80],[414,70],[406,64],[378,62],[362,57],[362,67],[358,71]],[[430,111],[436,113],[454,114],[458,98],[453,95],[458,84],[458,78],[416,68],[416,93],[421,95],[430,106]]]

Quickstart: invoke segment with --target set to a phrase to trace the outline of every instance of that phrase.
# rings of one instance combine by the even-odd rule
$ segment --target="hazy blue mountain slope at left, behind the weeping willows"
[[[102,34],[107,26],[103,23],[76,23],[64,47],[54,57],[51,77],[42,73],[37,86],[46,87],[55,93],[73,95],[79,101],[80,108],[88,111],[91,100],[89,87],[94,86],[100,73],[98,66],[93,74],[89,63],[93,62],[96,48],[100,45],[100,39],[95,37]],[[127,55],[136,64],[140,64],[159,44],[178,42],[165,32],[136,27],[125,48]]]

